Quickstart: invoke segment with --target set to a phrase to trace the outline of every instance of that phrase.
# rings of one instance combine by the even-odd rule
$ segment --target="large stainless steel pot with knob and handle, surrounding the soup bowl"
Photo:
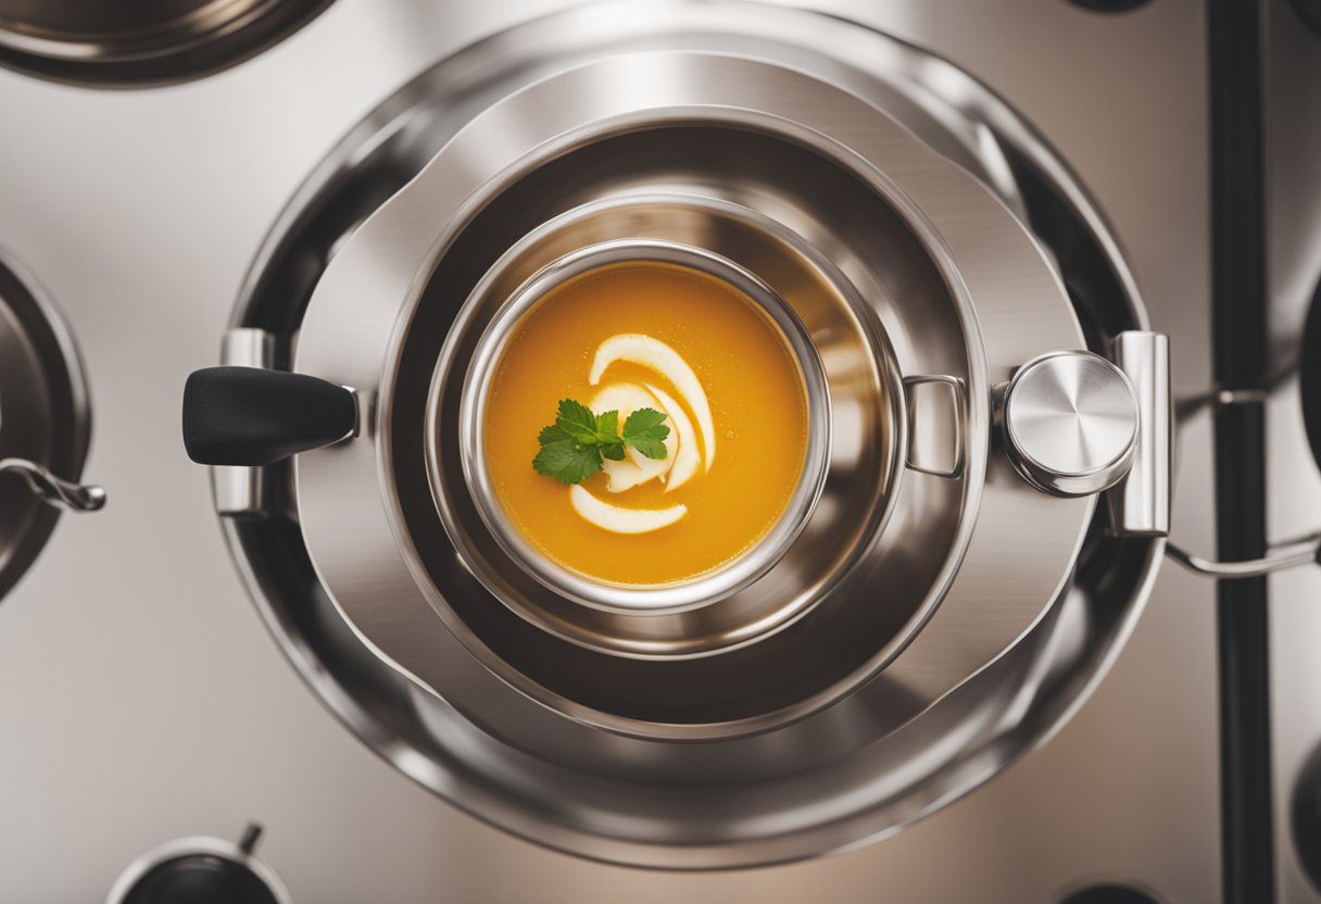
[[[346,172],[386,172],[375,155],[416,170],[334,209]],[[1032,229],[1020,182],[1049,188],[1071,242]],[[728,605],[621,619],[556,593],[462,477],[457,375],[486,322],[540,266],[620,239],[734,260],[848,387],[811,518]],[[272,300],[293,260],[310,297]],[[1061,271],[1099,291],[1075,303]],[[292,465],[201,456],[240,563],[359,732],[542,843],[696,868],[890,831],[1058,724],[1159,556],[1164,344],[1132,330],[1099,217],[971,79],[847,22],[620,4],[498,36],[346,139],[256,274],[227,363],[297,373],[201,381],[246,430],[258,408],[330,414],[243,437]],[[1079,566],[1098,559],[1103,587]]]

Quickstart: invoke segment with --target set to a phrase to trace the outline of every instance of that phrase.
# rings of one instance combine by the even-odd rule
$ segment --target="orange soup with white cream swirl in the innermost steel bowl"
[[[633,411],[664,414],[663,449],[626,448],[573,485],[538,473],[561,399],[618,411],[624,433]],[[495,496],[532,547],[646,587],[720,568],[775,525],[802,476],[807,398],[752,299],[687,267],[620,263],[563,283],[514,326],[481,428]]]

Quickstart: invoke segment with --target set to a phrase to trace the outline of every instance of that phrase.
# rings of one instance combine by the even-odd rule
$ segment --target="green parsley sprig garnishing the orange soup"
[[[601,469],[605,459],[622,461],[625,445],[649,459],[663,459],[664,437],[670,435],[664,418],[655,408],[638,408],[624,422],[621,435],[618,411],[596,415],[581,402],[560,399],[559,418],[536,437],[542,451],[532,467],[561,484],[581,484]]]

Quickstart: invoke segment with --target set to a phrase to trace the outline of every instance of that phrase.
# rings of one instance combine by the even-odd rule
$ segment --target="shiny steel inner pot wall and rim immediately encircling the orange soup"
[[[831,278],[834,268],[828,262],[814,260],[801,248],[786,245],[781,231],[744,207],[701,201],[696,196],[606,198],[567,211],[531,233],[502,256],[473,291],[461,320],[448,333],[446,352],[440,357],[433,379],[428,403],[428,465],[449,537],[462,551],[468,567],[506,605],[588,648],[634,657],[701,656],[745,645],[786,626],[815,605],[838,574],[856,560],[859,543],[865,542],[885,518],[884,502],[894,492],[908,447],[902,383],[884,330],[867,305],[856,293],[840,288],[847,284]],[[483,502],[481,486],[474,493],[465,489],[474,482],[474,473],[480,473],[476,465],[480,457],[473,448],[464,448],[465,437],[472,445],[476,406],[469,406],[468,416],[462,408],[483,378],[480,367],[462,366],[468,359],[464,337],[469,340],[468,348],[474,348],[469,333],[482,330],[472,361],[474,365],[489,361],[495,349],[483,350],[483,340],[505,333],[501,315],[517,313],[514,308],[505,308],[493,315],[491,308],[506,297],[517,305],[519,293],[510,295],[511,287],[524,278],[536,280],[535,275],[527,275],[538,270],[539,262],[565,252],[576,255],[575,250],[600,247],[600,243],[655,246],[662,242],[663,247],[672,248],[683,247],[676,242],[697,241],[708,246],[709,250],[701,252],[708,262],[724,259],[719,255],[738,255],[741,263],[732,264],[737,270],[727,272],[725,278],[738,279],[737,272],[745,274],[744,288],[761,292],[768,304],[783,305],[783,328],[791,340],[797,334],[808,398],[815,399],[804,478],[768,542],[707,580],[647,592],[593,589],[588,582],[556,585],[565,582],[547,582],[539,575],[539,566],[526,564],[536,562],[534,554],[517,548],[510,554],[510,543],[502,539],[498,527],[481,531],[481,525],[472,523],[474,508],[482,523],[490,525],[493,515],[489,504]],[[768,262],[774,262],[771,270]],[[757,274],[764,274],[769,282]],[[819,349],[811,338],[814,333],[831,334],[828,348]],[[457,419],[456,407],[460,408]],[[831,411],[848,416],[863,411],[867,416],[863,422],[840,424],[836,431]],[[456,422],[462,424],[457,453],[453,441],[445,439],[453,436]],[[872,448],[859,448],[859,436]],[[460,469],[453,464],[446,468],[446,460],[462,463],[464,480],[458,480]],[[859,494],[857,505],[843,511],[838,501],[827,500],[828,513],[812,517],[827,478],[827,465],[836,480],[841,472],[849,472],[853,485],[867,485],[871,490]],[[540,576],[543,583],[550,583],[551,592],[530,584],[526,575]],[[775,585],[785,591],[768,589]]]

